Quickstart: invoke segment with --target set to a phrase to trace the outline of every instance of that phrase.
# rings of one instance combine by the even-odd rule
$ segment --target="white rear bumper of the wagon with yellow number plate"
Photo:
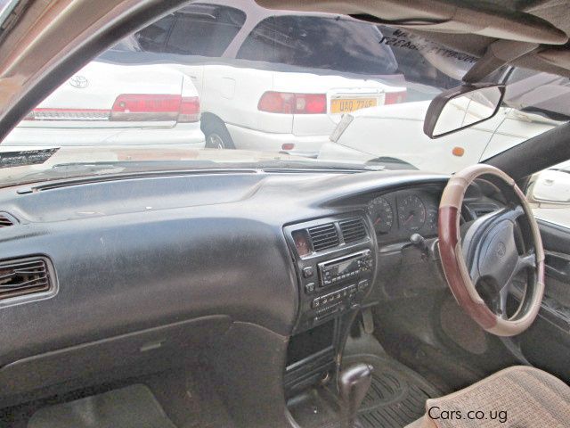
[[[293,134],[271,133],[255,129],[226,125],[236,149],[262,152],[288,152],[300,156],[316,157],[322,144],[329,141],[328,135],[295,136]],[[283,144],[292,144],[283,146]]]

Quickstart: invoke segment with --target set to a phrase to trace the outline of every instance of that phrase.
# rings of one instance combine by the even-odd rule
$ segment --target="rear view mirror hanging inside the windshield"
[[[491,119],[505,95],[503,85],[459,86],[437,95],[429,104],[424,133],[430,138],[447,136]]]

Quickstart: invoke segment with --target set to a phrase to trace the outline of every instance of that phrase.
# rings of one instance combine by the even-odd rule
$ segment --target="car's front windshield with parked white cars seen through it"
[[[507,84],[492,119],[430,140],[430,101],[476,61],[348,16],[194,2],[121,40],[29,111],[0,144],[0,180],[204,169],[450,174],[568,119],[567,78],[503,68],[488,78]]]

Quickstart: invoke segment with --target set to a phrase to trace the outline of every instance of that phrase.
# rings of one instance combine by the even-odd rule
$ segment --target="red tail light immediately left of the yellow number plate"
[[[327,112],[327,95],[265,92],[257,110],[282,114],[322,114]]]

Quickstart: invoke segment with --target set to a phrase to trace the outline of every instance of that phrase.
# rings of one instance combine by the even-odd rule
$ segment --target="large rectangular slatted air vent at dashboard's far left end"
[[[50,289],[44,259],[20,259],[0,263],[0,300]]]

